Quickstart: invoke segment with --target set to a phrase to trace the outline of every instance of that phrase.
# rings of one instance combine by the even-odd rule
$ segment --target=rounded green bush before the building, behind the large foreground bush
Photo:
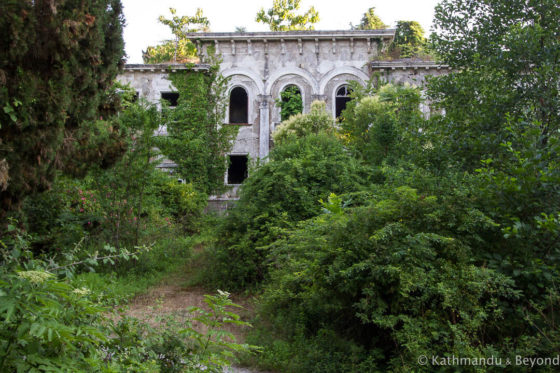
[[[274,148],[270,161],[251,172],[240,200],[218,228],[209,255],[211,281],[227,288],[266,277],[267,246],[283,228],[317,215],[331,192],[360,189],[367,170],[332,135],[310,134]]]

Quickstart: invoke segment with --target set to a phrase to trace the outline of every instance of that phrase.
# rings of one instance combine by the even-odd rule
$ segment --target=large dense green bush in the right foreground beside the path
[[[311,336],[331,330],[383,369],[415,370],[420,355],[499,348],[488,336],[504,332],[502,304],[520,292],[472,260],[495,223],[460,189],[436,197],[378,187],[374,195],[368,206],[330,208],[272,245],[261,314],[291,341],[298,328]]]

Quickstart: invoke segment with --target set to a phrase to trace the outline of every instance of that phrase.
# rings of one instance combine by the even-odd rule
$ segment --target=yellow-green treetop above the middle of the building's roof
[[[313,30],[313,24],[319,22],[319,13],[314,7],[303,14],[296,11],[301,7],[301,0],[273,0],[272,8],[264,8],[257,13],[257,22],[268,24],[271,31]]]

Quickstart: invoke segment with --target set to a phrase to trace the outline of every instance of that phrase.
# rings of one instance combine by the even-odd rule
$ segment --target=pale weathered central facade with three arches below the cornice
[[[215,53],[231,87],[249,97],[249,123],[241,126],[232,153],[266,158],[271,133],[280,123],[275,104],[289,85],[299,88],[303,112],[324,100],[333,111],[335,90],[350,80],[369,79],[369,62],[388,47],[394,30],[194,33],[201,61]],[[228,123],[226,121],[226,123]]]

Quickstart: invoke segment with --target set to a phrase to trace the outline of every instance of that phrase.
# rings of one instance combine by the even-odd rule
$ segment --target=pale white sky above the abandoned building
[[[172,38],[167,26],[158,22],[163,15],[169,18],[169,8],[177,15],[194,15],[202,8],[214,32],[233,32],[245,27],[248,32],[268,31],[267,25],[255,22],[261,8],[268,9],[272,0],[122,0],[126,27],[124,30],[127,63],[142,63],[142,50]],[[316,30],[347,30],[350,23],[360,22],[368,8],[385,24],[394,27],[399,20],[418,21],[426,34],[432,24],[438,0],[302,0],[301,10],[314,6],[319,12]]]

